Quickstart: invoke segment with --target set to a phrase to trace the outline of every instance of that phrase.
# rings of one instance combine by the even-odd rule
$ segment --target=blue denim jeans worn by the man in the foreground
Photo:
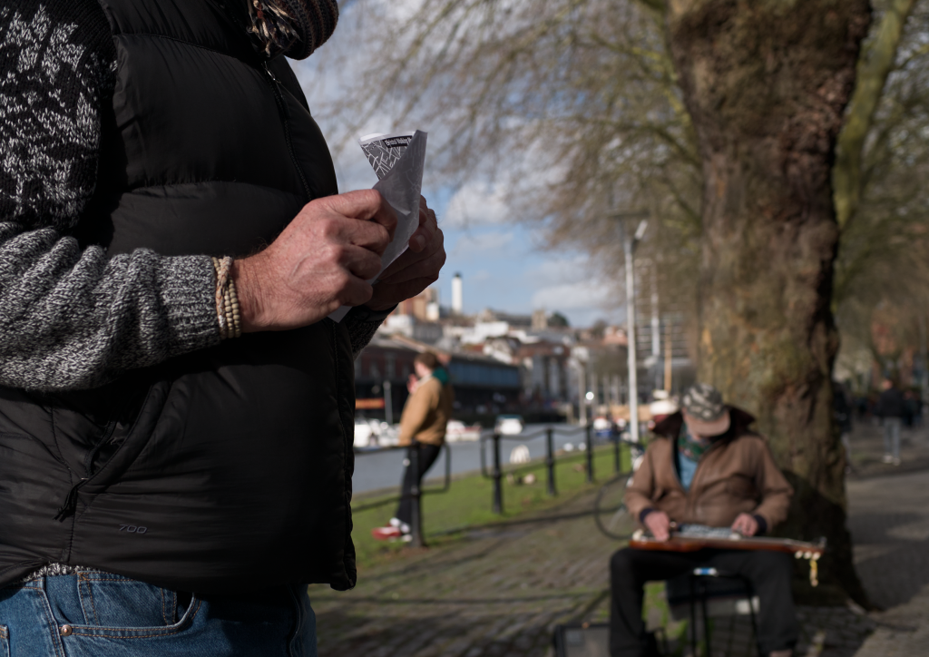
[[[317,657],[307,587],[182,594],[108,572],[0,589],[0,657]]]

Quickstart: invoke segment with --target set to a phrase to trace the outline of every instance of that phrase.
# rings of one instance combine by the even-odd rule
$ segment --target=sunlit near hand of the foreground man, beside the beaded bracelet
[[[365,281],[381,269],[396,228],[378,191],[306,204],[267,249],[233,263],[242,331],[299,328],[340,306],[367,303],[373,289]]]

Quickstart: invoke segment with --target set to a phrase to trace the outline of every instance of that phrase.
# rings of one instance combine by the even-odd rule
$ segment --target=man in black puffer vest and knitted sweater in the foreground
[[[438,278],[284,55],[335,0],[0,0],[0,654],[313,655],[353,358]],[[355,308],[343,322],[328,315]]]

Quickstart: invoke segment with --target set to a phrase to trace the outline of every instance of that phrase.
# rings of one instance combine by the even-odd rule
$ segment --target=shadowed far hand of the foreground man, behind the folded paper
[[[438,280],[438,271],[444,264],[445,237],[438,228],[436,213],[420,197],[419,228],[410,238],[410,248],[374,284],[368,308],[386,310],[418,295]]]

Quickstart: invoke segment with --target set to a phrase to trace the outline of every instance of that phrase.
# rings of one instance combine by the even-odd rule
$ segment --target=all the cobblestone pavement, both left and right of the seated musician
[[[848,493],[856,561],[872,601],[887,611],[800,608],[798,657],[929,655],[929,622],[922,620],[929,619],[929,470],[907,471],[907,462],[922,458],[925,434],[905,437],[905,464],[896,469],[869,460],[878,429],[861,427],[852,437],[858,466]],[[878,445],[877,461],[880,454]],[[582,515],[591,506],[586,495],[557,509],[562,519],[411,550],[360,572],[358,587],[347,593],[311,587],[321,657],[550,655],[555,624],[602,622],[608,613],[608,558],[616,544]],[[564,518],[572,512],[581,515]],[[649,618],[650,625],[660,621]],[[732,643],[742,650],[728,655],[754,654],[747,621],[726,623],[716,622],[714,647]]]

